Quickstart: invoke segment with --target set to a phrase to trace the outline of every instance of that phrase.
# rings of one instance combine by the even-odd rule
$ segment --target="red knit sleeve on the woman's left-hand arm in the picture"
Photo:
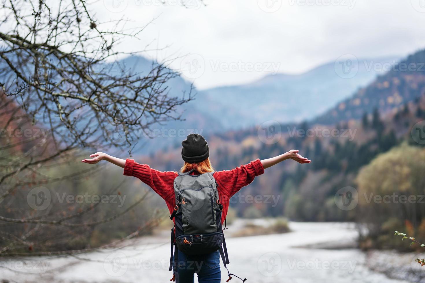
[[[125,160],[124,175],[140,179],[166,201],[174,196],[173,182],[178,175],[176,172],[158,171],[150,168],[147,164],[139,164],[132,159],[127,159]]]

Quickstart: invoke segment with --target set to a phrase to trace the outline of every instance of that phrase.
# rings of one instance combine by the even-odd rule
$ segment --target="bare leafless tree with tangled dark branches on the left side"
[[[122,217],[146,195],[119,211],[55,202],[34,210],[28,191],[61,182],[80,186],[99,170],[68,170],[81,149],[131,151],[139,138],[134,132],[149,133],[155,123],[181,119],[177,107],[192,99],[191,91],[170,95],[167,81],[178,73],[167,62],[134,73],[114,61],[122,55],[116,44],[137,38],[143,28],[127,30],[125,20],[99,22],[84,0],[2,0],[1,11],[0,255],[74,249],[64,247],[65,241]],[[105,194],[119,194],[120,185],[110,185]],[[129,234],[156,220],[146,219]]]

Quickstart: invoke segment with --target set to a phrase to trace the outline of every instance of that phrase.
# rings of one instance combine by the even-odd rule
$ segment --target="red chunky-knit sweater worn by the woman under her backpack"
[[[256,176],[263,173],[263,164],[261,164],[259,159],[232,170],[214,173],[214,179],[218,183],[218,196],[223,205],[221,222],[224,222],[227,210],[229,210],[229,199],[242,187],[251,183]],[[161,172],[150,168],[149,165],[139,164],[132,159],[127,159],[125,161],[124,175],[139,178],[165,200],[170,214],[173,212],[174,205],[176,205],[173,188],[174,179],[178,176],[176,172]]]

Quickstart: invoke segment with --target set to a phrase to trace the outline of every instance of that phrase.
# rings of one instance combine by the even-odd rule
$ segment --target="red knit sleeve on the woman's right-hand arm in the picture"
[[[263,173],[263,164],[257,159],[232,170],[217,171],[214,173],[214,178],[218,182],[219,189],[221,186],[221,191],[230,198],[242,187],[249,185],[256,176]]]

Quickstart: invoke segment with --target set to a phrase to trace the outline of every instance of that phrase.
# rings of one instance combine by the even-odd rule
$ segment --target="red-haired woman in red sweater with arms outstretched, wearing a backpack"
[[[165,200],[165,203],[167,204],[167,207],[170,210],[171,216],[176,216],[176,218],[170,217],[173,219],[173,221],[175,221],[175,224],[176,224],[177,214],[179,211],[179,206],[183,207],[187,203],[189,203],[190,205],[190,201],[191,201],[189,199],[190,198],[189,194],[186,195],[187,199],[185,197],[181,198],[180,193],[183,192],[183,190],[178,191],[176,193],[176,188],[175,188],[176,184],[174,182],[176,177],[187,175],[187,174],[193,177],[200,176],[201,174],[202,175],[210,174],[208,175],[210,176],[209,178],[215,179],[215,185],[211,185],[211,189],[213,187],[216,189],[216,192],[218,192],[218,199],[216,200],[216,203],[215,201],[213,201],[213,193],[211,193],[211,200],[213,202],[212,211],[214,212],[214,207],[217,207],[217,210],[216,210],[218,212],[217,215],[218,216],[221,215],[221,219],[216,220],[217,225],[215,226],[215,229],[218,228],[219,230],[222,229],[221,225],[226,219],[227,210],[229,208],[229,199],[235,193],[237,193],[242,187],[251,183],[256,176],[263,174],[264,169],[269,168],[273,165],[276,165],[280,163],[281,161],[287,160],[287,159],[295,160],[298,163],[311,162],[307,158],[304,158],[300,154],[298,154],[298,150],[292,149],[276,157],[272,157],[272,158],[268,158],[264,160],[257,159],[257,160],[251,161],[250,163],[246,165],[241,165],[240,167],[236,167],[235,169],[232,169],[232,170],[223,170],[223,171],[214,172],[214,168],[212,168],[212,165],[210,163],[210,158],[209,158],[210,149],[204,137],[202,137],[199,134],[189,134],[186,140],[184,140],[181,143],[181,145],[183,146],[181,150],[181,157],[184,160],[184,165],[181,167],[181,173],[177,173],[173,171],[167,171],[167,172],[158,171],[158,170],[150,168],[149,165],[139,164],[132,159],[123,160],[123,159],[119,159],[119,158],[110,156],[108,154],[105,154],[103,152],[96,152],[95,154],[91,154],[90,155],[91,159],[84,159],[82,160],[82,162],[88,163],[88,164],[96,164],[101,160],[106,160],[108,162],[111,162],[115,165],[118,165],[124,168],[125,176],[133,176],[133,177],[139,178],[142,182],[150,186],[150,188],[152,188],[153,191],[158,193],[159,196],[161,196],[161,198]],[[185,173],[185,174],[182,174],[182,173]],[[196,178],[190,178],[190,179],[196,179]],[[182,182],[180,181],[179,184],[181,183]],[[194,184],[193,182],[190,183],[190,185],[193,185],[193,184]],[[205,188],[205,187],[202,187],[202,188]],[[195,191],[200,191],[200,189]],[[176,196],[178,197],[177,200],[176,200]],[[210,195],[208,194],[207,196],[210,196]],[[211,212],[211,206],[210,206],[210,212]],[[201,209],[198,209],[195,213],[201,214]],[[188,215],[187,212],[185,212],[186,217],[187,215]],[[215,218],[212,217],[212,219],[215,219]],[[193,222],[196,222],[196,221],[193,220]],[[187,228],[187,224],[185,225]],[[184,227],[184,225],[178,225],[178,223],[176,224],[176,230],[174,232],[175,234],[177,234],[177,229],[180,226]],[[222,233],[222,230],[221,230],[221,233]],[[216,236],[215,234],[217,233],[212,233],[212,234]],[[200,236],[200,240],[197,240],[199,236]],[[191,238],[184,237],[184,240],[182,240],[181,243],[186,244],[187,247],[190,246],[190,248],[193,248],[192,246],[197,245],[196,241],[204,240],[204,244],[205,244],[206,243],[205,241],[208,241],[208,240],[205,240],[205,238],[207,238],[207,235],[204,235],[204,239],[202,238],[202,236],[203,235],[190,235]],[[173,233],[172,233],[172,238],[173,238]],[[174,242],[178,246],[177,240],[178,238],[176,238]],[[221,241],[223,241],[223,239],[221,239]],[[171,244],[173,247],[173,240]],[[201,245],[202,244],[200,244],[199,247],[201,247]],[[180,283],[193,283],[194,274],[197,273],[199,283],[207,283],[207,282],[219,283],[221,280],[220,255],[223,261],[228,261],[225,255],[221,254],[221,252],[222,250],[220,248],[220,250],[215,250],[214,252],[210,252],[205,255],[198,255],[198,254],[195,255],[195,254],[186,254],[184,252],[181,252],[180,248],[178,250],[176,249],[176,252],[174,253],[174,257],[172,254],[172,259],[174,258],[175,262],[173,263],[176,263],[177,266],[173,265],[174,275],[170,281],[176,280],[176,282],[180,282]],[[226,255],[227,255],[227,251],[226,251]],[[176,260],[177,258],[178,258],[178,261]],[[194,262],[195,264],[193,264]],[[196,265],[196,263],[199,263],[199,264]],[[192,267],[189,268],[189,266],[192,266]],[[193,266],[198,266],[199,268],[195,269],[193,268]],[[224,262],[224,266],[226,266],[225,262]],[[228,280],[232,278],[230,275],[231,274],[229,274]]]

